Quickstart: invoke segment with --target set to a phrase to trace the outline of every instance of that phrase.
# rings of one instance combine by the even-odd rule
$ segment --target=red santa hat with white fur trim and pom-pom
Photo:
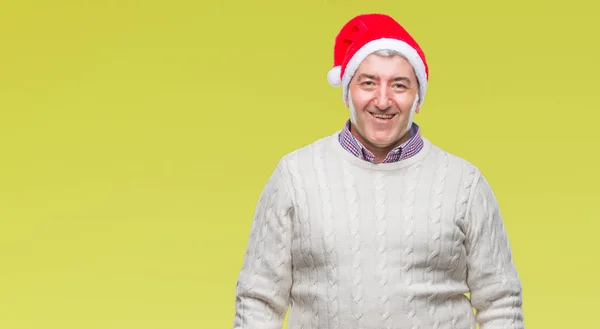
[[[333,68],[327,80],[333,87],[342,86],[346,101],[348,84],[360,64],[379,50],[394,50],[412,65],[419,81],[419,107],[425,99],[429,69],[421,47],[392,17],[384,14],[363,14],[348,21],[335,39]]]

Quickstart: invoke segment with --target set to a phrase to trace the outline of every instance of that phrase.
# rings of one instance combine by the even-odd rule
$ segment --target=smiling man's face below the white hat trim
[[[418,83],[401,56],[368,56],[348,87],[352,131],[365,146],[391,149],[408,140]]]

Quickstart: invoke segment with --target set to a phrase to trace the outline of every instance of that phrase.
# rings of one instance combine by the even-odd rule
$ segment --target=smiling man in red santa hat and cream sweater
[[[284,156],[268,180],[235,329],[279,329],[288,306],[292,329],[524,328],[488,182],[413,122],[428,74],[391,17],[359,15],[341,29],[328,80],[342,86],[350,120]]]

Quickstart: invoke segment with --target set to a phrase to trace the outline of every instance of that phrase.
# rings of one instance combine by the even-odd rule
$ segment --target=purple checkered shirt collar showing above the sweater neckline
[[[408,141],[391,150],[381,163],[398,162],[417,154],[423,148],[423,139],[421,138],[421,129],[414,122],[410,129],[410,136]],[[376,163],[375,155],[367,150],[350,132],[350,120],[346,121],[346,125],[340,132],[338,139],[346,151],[360,159]]]

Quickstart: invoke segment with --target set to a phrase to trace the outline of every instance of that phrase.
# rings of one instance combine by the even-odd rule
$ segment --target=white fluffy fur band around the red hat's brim
[[[344,76],[342,77],[342,100],[346,102],[346,98],[348,95],[348,84],[350,83],[350,80],[352,80],[352,77],[354,76],[354,73],[356,73],[356,70],[358,69],[360,64],[365,60],[365,58],[367,58],[367,56],[383,49],[395,50],[401,53],[403,56],[406,57],[408,62],[414,68],[417,79],[419,80],[420,107],[423,104],[423,101],[425,100],[425,91],[427,89],[427,74],[425,72],[425,64],[421,60],[421,57],[419,56],[417,51],[409,44],[407,44],[404,41],[388,38],[370,41],[369,43],[365,44],[362,48],[360,48],[354,54],[354,56],[352,56],[352,58],[346,65],[346,70],[344,71]]]

